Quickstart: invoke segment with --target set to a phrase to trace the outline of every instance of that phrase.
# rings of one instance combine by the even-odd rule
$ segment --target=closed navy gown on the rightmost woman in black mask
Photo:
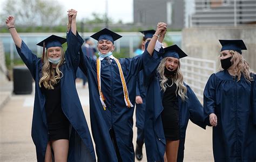
[[[254,81],[250,83],[241,76],[237,82],[227,70],[213,73],[208,79],[204,113],[207,118],[215,113],[218,119],[213,127],[215,161],[256,160],[255,92]]]

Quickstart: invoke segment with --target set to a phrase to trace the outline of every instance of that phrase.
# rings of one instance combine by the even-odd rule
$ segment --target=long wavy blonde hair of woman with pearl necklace
[[[163,58],[157,68],[157,71],[160,76],[161,90],[163,90],[163,91],[166,90],[166,82],[168,80],[167,77],[164,76],[164,69],[165,69],[165,64],[166,64],[167,58],[168,57]],[[176,71],[176,75],[172,79],[173,79],[173,82],[177,85],[176,96],[179,95],[183,101],[186,100],[187,99],[187,95],[186,95],[187,87],[183,83],[183,75],[180,71],[180,62],[178,62],[178,68]]]

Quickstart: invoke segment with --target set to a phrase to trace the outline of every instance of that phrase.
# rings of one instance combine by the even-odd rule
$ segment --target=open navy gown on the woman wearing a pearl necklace
[[[147,84],[145,146],[147,161],[164,161],[166,140],[163,124],[161,122],[161,112],[164,109],[162,105],[164,92],[161,91],[159,74],[156,70],[161,58],[156,57],[155,54],[156,52],[154,52],[153,55],[155,59],[152,59],[153,57],[144,57],[143,60],[145,65],[145,83]],[[187,99],[183,102],[178,96],[180,141],[177,161],[183,161],[184,158],[184,145],[188,120],[190,119],[191,122],[203,129],[206,127],[204,124],[203,106],[190,86],[185,83],[184,85],[187,87]]]

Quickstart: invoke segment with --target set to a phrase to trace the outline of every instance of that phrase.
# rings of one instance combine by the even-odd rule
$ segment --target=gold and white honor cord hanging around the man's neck
[[[124,73],[123,73],[121,64],[119,63],[119,60],[117,58],[114,57],[114,60],[116,60],[116,62],[117,62],[118,70],[119,70],[119,73],[120,73],[120,78],[121,78],[122,85],[123,85],[125,105],[127,107],[133,107],[133,105],[132,105],[132,103],[129,99],[129,92],[127,90],[127,86],[126,86]],[[97,82],[98,82],[99,98],[100,98],[100,102],[102,102],[102,106],[103,106],[104,110],[106,110],[106,104],[104,102],[105,98],[103,96],[102,89],[101,89],[101,80],[100,80],[101,65],[100,65],[100,59],[99,58],[97,58],[97,60],[96,60],[96,67],[97,67]]]

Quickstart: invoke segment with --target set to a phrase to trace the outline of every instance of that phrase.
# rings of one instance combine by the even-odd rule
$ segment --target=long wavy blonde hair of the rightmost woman
[[[228,52],[232,55],[231,62],[234,66],[235,75],[238,76],[237,82],[241,79],[241,75],[244,75],[248,82],[253,80],[250,73],[254,73],[254,71],[250,69],[249,64],[246,62],[244,57],[242,57],[242,55],[237,51],[229,50]]]

